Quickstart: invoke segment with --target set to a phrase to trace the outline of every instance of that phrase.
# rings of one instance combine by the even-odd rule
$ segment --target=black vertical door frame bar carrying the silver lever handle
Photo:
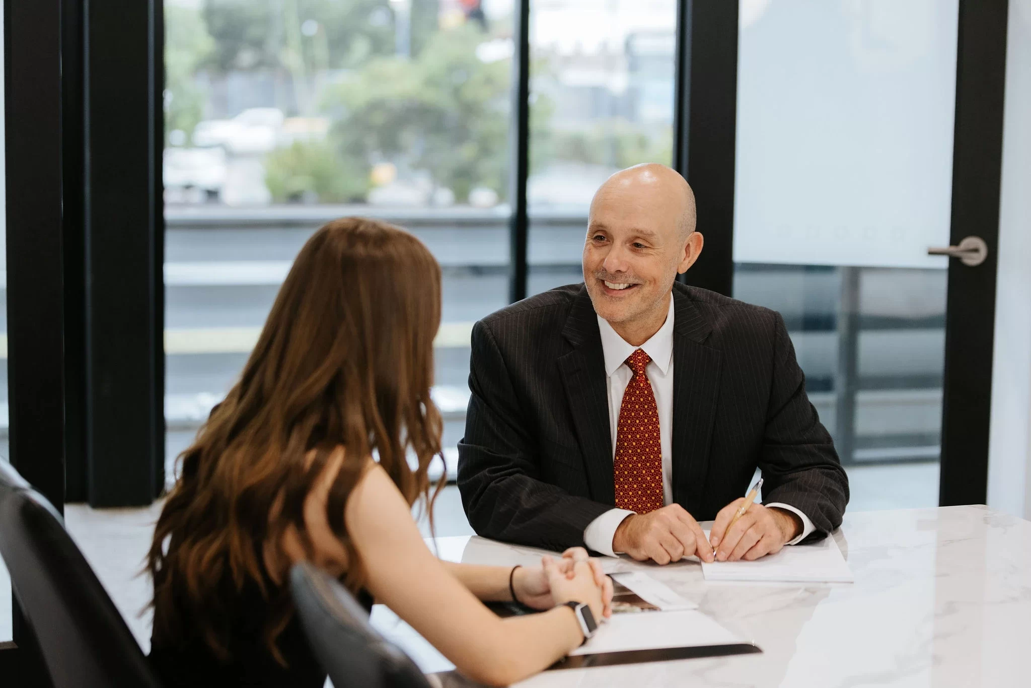
[[[942,506],[988,498],[1007,11],[1006,0],[960,0],[950,237],[954,245],[982,237],[988,258],[976,267],[955,259],[949,265]]]

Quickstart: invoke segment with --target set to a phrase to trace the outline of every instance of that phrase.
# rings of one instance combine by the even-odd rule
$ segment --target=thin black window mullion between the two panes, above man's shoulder
[[[530,0],[519,0],[516,11],[516,55],[512,59],[512,215],[508,240],[508,300],[526,298],[529,217],[526,178],[530,173]]]

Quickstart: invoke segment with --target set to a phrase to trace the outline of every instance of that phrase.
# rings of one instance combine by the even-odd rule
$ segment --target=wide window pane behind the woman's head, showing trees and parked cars
[[[165,7],[169,462],[303,242],[363,215],[411,230],[443,268],[434,398],[454,468],[469,332],[507,303],[511,0]]]

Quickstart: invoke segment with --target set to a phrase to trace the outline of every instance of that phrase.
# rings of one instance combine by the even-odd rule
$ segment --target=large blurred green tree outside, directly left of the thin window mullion
[[[481,30],[462,25],[434,35],[411,60],[380,58],[333,87],[331,139],[348,165],[394,163],[428,171],[465,201],[474,187],[506,195],[510,69],[476,57]]]

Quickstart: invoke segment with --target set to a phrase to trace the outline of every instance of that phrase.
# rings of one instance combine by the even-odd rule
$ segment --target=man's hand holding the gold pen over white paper
[[[786,543],[802,532],[802,519],[797,514],[762,504],[752,504],[728,530],[727,526],[743,503],[743,497],[735,499],[717,514],[709,531],[709,543],[716,549],[719,561],[755,561],[779,552]]]

